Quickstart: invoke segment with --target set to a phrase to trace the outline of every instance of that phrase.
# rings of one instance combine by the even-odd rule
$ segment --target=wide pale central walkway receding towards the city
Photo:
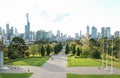
[[[63,49],[59,54],[53,55],[41,68],[36,69],[30,78],[66,78],[67,60],[64,51]]]

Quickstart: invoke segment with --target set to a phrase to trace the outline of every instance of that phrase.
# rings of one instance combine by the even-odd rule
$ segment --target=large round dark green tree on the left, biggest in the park
[[[28,49],[28,47],[25,44],[25,41],[20,38],[20,37],[14,37],[12,39],[12,42],[10,43],[8,47],[8,51],[11,52],[12,54],[8,53],[9,56],[14,56],[14,55],[19,55],[19,57],[24,57],[25,55],[25,50]]]

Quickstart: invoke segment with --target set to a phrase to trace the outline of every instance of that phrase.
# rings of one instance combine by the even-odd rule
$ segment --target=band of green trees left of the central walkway
[[[49,41],[35,41],[34,44],[26,45],[20,37],[14,37],[9,46],[4,46],[5,57],[9,59],[25,57],[44,57],[50,54],[58,54],[62,49],[62,43]]]

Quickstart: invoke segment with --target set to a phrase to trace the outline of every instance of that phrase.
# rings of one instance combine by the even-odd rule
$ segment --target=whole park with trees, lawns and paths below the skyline
[[[0,43],[0,78],[119,78],[119,38]]]

